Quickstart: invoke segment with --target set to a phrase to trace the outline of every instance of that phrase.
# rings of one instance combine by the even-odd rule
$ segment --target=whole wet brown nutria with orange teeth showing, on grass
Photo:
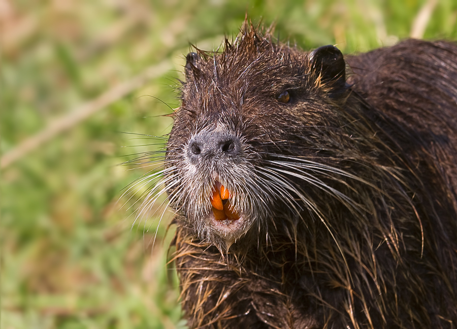
[[[189,327],[455,327],[457,45],[222,48],[167,144]]]

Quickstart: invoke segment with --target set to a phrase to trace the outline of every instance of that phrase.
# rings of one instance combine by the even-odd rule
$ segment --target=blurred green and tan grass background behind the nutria
[[[163,146],[189,44],[246,12],[304,49],[457,40],[455,0],[0,0],[3,329],[185,327],[171,213],[121,198],[160,163],[121,163]]]

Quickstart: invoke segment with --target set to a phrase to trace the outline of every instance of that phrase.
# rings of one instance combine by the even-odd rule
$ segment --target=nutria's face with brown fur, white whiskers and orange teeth
[[[187,56],[166,186],[195,235],[227,250],[247,232],[268,234],[275,220],[307,208],[297,201],[303,182],[295,182],[304,176],[286,162],[318,152],[316,140],[324,141],[316,127],[332,124],[321,66],[328,51],[303,54],[251,32],[223,53]],[[340,64],[332,83],[341,80],[342,63],[344,85],[341,53],[330,54]]]

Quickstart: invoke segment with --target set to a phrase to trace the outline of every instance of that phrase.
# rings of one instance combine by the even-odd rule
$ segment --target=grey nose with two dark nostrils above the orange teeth
[[[190,140],[188,152],[194,160],[217,156],[236,157],[241,152],[241,142],[234,134],[202,131]]]

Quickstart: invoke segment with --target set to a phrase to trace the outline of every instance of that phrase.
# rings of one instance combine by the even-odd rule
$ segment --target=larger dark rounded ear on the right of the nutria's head
[[[309,54],[309,60],[323,84],[329,84],[330,89],[336,93],[345,89],[346,63],[337,47],[329,45],[317,48]]]

